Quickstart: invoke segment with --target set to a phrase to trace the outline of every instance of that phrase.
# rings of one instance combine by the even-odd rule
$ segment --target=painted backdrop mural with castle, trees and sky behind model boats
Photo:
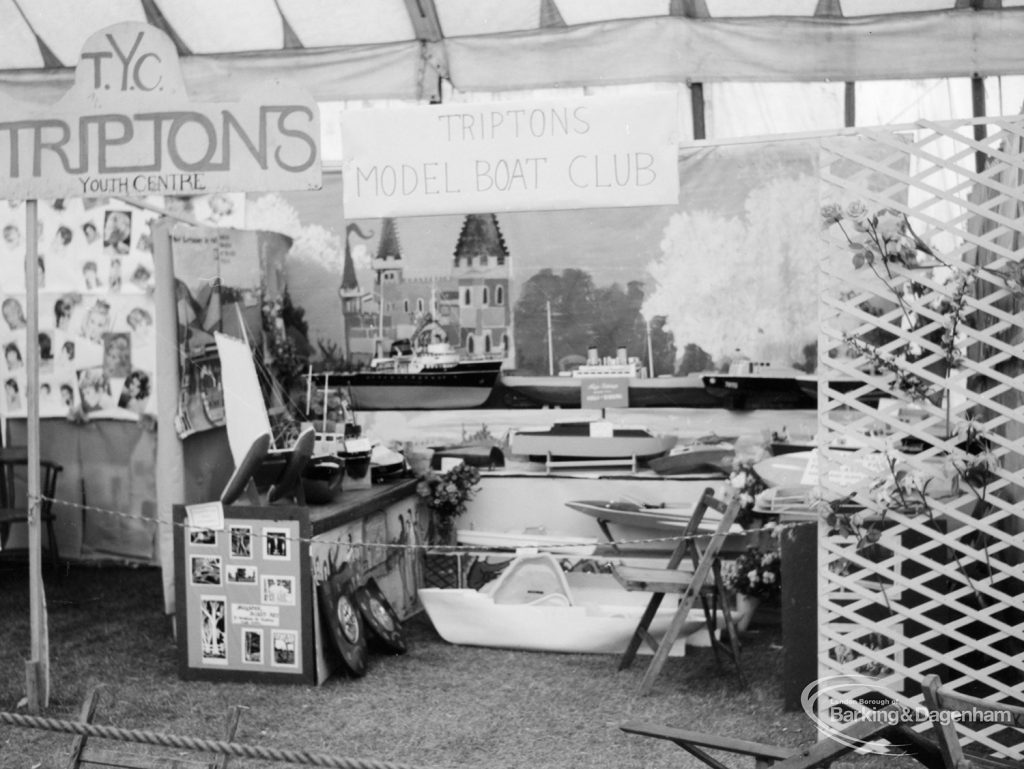
[[[678,206],[352,222],[329,174],[319,193],[254,199],[249,223],[295,238],[292,300],[314,349],[346,362],[430,314],[464,354],[520,373],[589,347],[649,351],[655,375],[740,354],[811,369],[816,163],[809,142],[700,147],[681,154]]]

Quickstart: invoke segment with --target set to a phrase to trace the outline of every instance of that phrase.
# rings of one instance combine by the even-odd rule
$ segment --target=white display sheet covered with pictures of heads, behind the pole
[[[114,201],[39,206],[39,413],[156,414],[153,248],[147,211]],[[25,204],[0,212],[0,414],[27,413]]]

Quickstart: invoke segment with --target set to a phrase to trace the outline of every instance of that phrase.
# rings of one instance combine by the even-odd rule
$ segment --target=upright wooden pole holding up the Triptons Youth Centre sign
[[[28,490],[26,505],[29,515],[29,623],[32,657],[26,664],[26,687],[29,712],[36,714],[49,704],[49,644],[46,638],[46,600],[43,595],[42,532],[40,530],[39,482],[39,203],[28,201],[26,206],[25,288],[26,314],[26,383],[28,405]],[[56,547],[56,543],[49,543]]]

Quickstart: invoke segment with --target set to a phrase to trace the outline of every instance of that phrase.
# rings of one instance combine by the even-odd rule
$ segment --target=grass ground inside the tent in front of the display
[[[158,569],[78,566],[60,582],[47,572],[46,596],[51,698],[43,715],[53,718],[77,718],[86,691],[104,683],[114,696],[98,723],[220,739],[227,707],[241,704],[248,710],[236,741],[418,767],[703,766],[673,744],[620,731],[630,719],[786,745],[815,739],[803,713],[782,710],[777,626],[746,639],[746,689],[716,666],[711,650],[694,649],[670,659],[654,691],[639,697],[643,659],[617,672],[608,655],[453,646],[422,614],[406,624],[406,655],[375,656],[362,679],[335,677],[311,687],[181,681]],[[28,655],[25,568],[7,565],[0,569],[0,710],[17,709]],[[71,741],[0,724],[0,767],[62,767]],[[896,766],[881,757],[854,763],[861,759]],[[287,766],[241,759],[230,765]]]

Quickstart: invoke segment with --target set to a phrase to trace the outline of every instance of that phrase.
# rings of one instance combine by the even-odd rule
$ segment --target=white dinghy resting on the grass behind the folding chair
[[[421,588],[419,595],[449,643],[595,654],[626,650],[650,598],[626,591],[611,574],[565,572],[550,553],[517,556],[479,590]],[[668,629],[674,609],[666,602],[655,615],[655,638]],[[703,611],[694,609],[671,653],[682,656],[687,643],[709,642]]]

